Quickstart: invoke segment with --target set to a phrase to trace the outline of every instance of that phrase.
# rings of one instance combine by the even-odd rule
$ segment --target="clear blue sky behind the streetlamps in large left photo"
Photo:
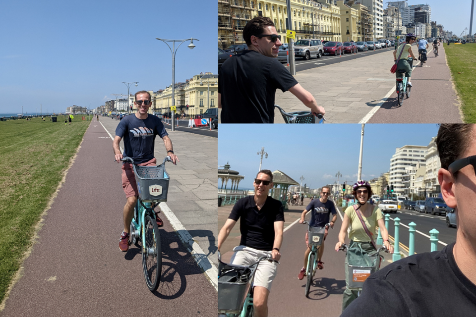
[[[217,73],[216,1],[1,1],[0,113],[97,107],[172,83],[172,53],[155,38],[195,38],[176,55],[176,82]],[[177,46],[176,46],[177,47]]]

